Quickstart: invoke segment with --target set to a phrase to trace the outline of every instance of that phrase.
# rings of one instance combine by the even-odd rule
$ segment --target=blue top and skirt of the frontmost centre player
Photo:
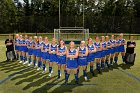
[[[73,49],[72,51],[69,49],[68,54],[69,55],[75,55],[76,49]],[[77,58],[67,58],[66,67],[69,69],[75,69],[78,68],[78,61]]]

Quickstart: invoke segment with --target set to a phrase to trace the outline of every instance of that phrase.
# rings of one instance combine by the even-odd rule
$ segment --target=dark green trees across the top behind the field
[[[83,3],[84,2],[84,3]],[[60,0],[61,26],[92,33],[140,33],[140,0]],[[0,33],[53,32],[59,0],[1,0]]]

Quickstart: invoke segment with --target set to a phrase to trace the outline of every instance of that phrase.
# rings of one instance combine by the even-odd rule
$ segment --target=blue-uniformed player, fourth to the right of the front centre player
[[[105,57],[106,57],[106,41],[105,41],[105,37],[102,36],[101,37],[101,44],[102,44],[102,52],[101,52],[101,68],[104,69],[105,67]]]

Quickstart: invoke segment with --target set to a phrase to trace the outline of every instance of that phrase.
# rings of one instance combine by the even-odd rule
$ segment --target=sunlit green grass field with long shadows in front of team
[[[57,80],[56,64],[53,67],[54,73],[51,78],[48,77],[48,73],[41,74],[41,71],[34,68],[17,73],[28,68],[28,66],[18,62],[4,62],[6,60],[5,46],[4,41],[0,40],[0,93],[140,93],[140,41],[136,42],[137,56],[134,66],[122,65],[121,57],[119,57],[118,66],[109,70],[105,69],[102,74],[97,74],[95,71],[95,77],[88,73],[89,80],[87,82],[83,79],[81,69],[79,80],[80,84],[83,85],[65,86],[61,85],[64,83],[63,73],[61,79]],[[72,74],[69,84],[74,84],[74,81]]]

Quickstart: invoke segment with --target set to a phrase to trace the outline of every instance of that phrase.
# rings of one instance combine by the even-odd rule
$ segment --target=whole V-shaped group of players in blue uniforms
[[[45,73],[49,65],[49,77],[53,73],[53,65],[57,63],[58,79],[61,77],[61,68],[65,73],[65,83],[68,82],[70,72],[73,70],[78,84],[78,74],[80,69],[83,70],[85,81],[87,77],[87,66],[90,65],[90,72],[94,76],[94,64],[99,73],[102,73],[106,67],[117,64],[118,55],[121,53],[122,63],[125,64],[125,39],[123,34],[109,36],[95,37],[95,42],[92,38],[86,41],[81,41],[78,48],[75,48],[75,43],[71,41],[66,47],[65,41],[60,40],[57,44],[56,39],[53,38],[51,42],[47,37],[44,40],[41,36],[28,37],[27,35],[16,34],[15,51],[19,63],[33,65],[37,70],[43,70]]]

